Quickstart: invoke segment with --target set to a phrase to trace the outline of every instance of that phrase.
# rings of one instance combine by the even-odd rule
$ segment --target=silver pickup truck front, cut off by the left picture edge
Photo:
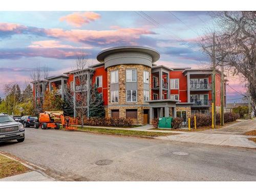
[[[0,114],[0,142],[25,140],[25,129],[22,123],[16,122],[10,115]]]

